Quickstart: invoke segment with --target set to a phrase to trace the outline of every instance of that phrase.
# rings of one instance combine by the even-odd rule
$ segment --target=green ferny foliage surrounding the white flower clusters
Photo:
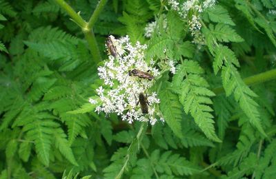
[[[79,15],[62,2],[0,0],[0,178],[275,176],[276,1],[217,1],[201,48],[167,1],[66,1]],[[174,59],[156,83],[166,123],[88,103],[109,34],[148,44],[147,61]]]

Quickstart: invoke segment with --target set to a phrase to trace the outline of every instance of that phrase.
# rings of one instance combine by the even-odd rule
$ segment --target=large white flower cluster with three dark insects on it
[[[159,112],[160,101],[157,93],[149,90],[155,80],[130,76],[132,70],[140,70],[154,77],[159,76],[159,70],[148,65],[144,60],[144,50],[147,46],[139,42],[132,45],[128,36],[121,39],[110,36],[110,39],[117,51],[117,56],[110,55],[108,61],[98,67],[99,77],[103,79],[105,86],[96,89],[99,105],[95,111],[106,114],[116,113],[128,123],[139,120],[149,121],[154,125],[157,120],[164,121]],[[144,102],[146,101],[144,103],[147,108],[146,113],[141,109],[141,96],[144,96]],[[90,103],[93,104],[95,101],[90,99]]]

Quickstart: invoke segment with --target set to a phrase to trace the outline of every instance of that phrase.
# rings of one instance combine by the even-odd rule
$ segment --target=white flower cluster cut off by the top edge
[[[179,3],[177,0],[170,0],[168,4],[171,6],[172,10],[176,10],[179,15],[186,19],[189,12],[192,12],[192,17],[188,17],[188,24],[190,26],[190,32],[194,37],[193,43],[199,45],[204,45],[204,36],[201,34],[201,23],[200,23],[200,14],[206,9],[215,5],[215,0],[188,0],[184,3]]]

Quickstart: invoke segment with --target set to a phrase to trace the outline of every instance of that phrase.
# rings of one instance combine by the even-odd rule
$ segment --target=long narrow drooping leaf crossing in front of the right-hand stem
[[[215,55],[213,67],[215,74],[222,69],[221,78],[224,89],[226,90],[226,95],[235,94],[235,101],[239,103],[239,106],[248,116],[250,123],[266,136],[259,118],[259,112],[257,110],[258,105],[253,100],[253,97],[257,95],[242,81],[241,76],[237,72],[235,65],[239,66],[239,62],[234,52],[224,45],[218,45],[215,35],[208,34],[208,31],[209,30],[205,28],[204,34],[208,36],[207,44],[210,52]]]

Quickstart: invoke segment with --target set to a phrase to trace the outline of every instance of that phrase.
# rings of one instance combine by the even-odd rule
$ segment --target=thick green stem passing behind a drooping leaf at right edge
[[[260,74],[255,74],[253,76],[249,76],[247,78],[244,78],[243,81],[246,83],[246,85],[255,85],[258,83],[264,83],[266,81],[270,81],[276,79],[276,69],[269,70],[267,72],[263,72]],[[215,92],[215,94],[221,94],[224,93],[224,87],[217,87],[212,90]]]

